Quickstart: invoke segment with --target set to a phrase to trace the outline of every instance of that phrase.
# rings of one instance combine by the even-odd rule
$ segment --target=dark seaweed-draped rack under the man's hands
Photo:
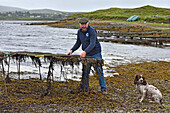
[[[94,67],[94,75],[98,75],[98,73],[101,73],[101,69],[103,66],[103,59],[94,59],[90,57],[80,58],[78,55],[62,55],[62,54],[50,54],[50,53],[40,53],[40,52],[11,52],[11,53],[0,53],[0,63],[2,64],[2,72],[5,74],[3,62],[5,62],[8,65],[8,76],[6,79],[8,80],[8,83],[10,82],[9,77],[9,68],[10,68],[10,58],[16,61],[17,65],[17,71],[18,71],[18,79],[20,80],[20,67],[21,62],[26,62],[27,58],[30,58],[32,60],[32,64],[35,65],[35,67],[39,67],[39,75],[40,80],[42,80],[41,76],[41,69],[42,66],[40,57],[44,58],[44,61],[50,62],[49,70],[47,74],[47,85],[45,91],[42,92],[40,97],[44,97],[49,94],[49,91],[51,89],[51,81],[53,80],[53,71],[54,71],[54,64],[60,65],[61,67],[61,75],[67,80],[67,75],[63,71],[64,67],[67,65],[70,65],[72,67],[72,70],[74,69],[74,65],[79,66],[80,63],[82,64],[82,82],[85,81],[89,85],[89,81],[84,78],[84,73],[89,72],[89,66]],[[9,58],[9,60],[7,60]],[[88,73],[89,74],[89,73]],[[98,77],[98,76],[97,76]],[[6,83],[6,81],[5,81]],[[82,87],[84,89],[84,87]]]

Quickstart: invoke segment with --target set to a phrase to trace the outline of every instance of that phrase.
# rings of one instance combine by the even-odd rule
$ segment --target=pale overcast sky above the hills
[[[1,6],[24,9],[54,9],[69,12],[89,12],[108,8],[136,8],[152,5],[170,8],[170,0],[0,0]]]

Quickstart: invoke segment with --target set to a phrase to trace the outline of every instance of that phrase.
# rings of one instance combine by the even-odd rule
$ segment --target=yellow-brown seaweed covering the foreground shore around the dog
[[[160,61],[119,65],[115,67],[119,76],[105,77],[108,95],[102,95],[96,77],[89,76],[89,92],[80,92],[77,89],[81,81],[51,81],[52,84],[48,94],[43,98],[39,98],[42,92],[46,91],[47,82],[46,80],[41,81],[32,78],[28,80],[12,79],[12,82],[7,84],[8,100],[5,95],[5,85],[0,79],[0,112],[169,113],[169,67],[169,62]],[[144,101],[142,106],[138,103],[140,95],[136,92],[133,80],[135,75],[139,73],[147,77],[149,84],[160,89],[163,94],[163,106],[149,102],[149,100]]]

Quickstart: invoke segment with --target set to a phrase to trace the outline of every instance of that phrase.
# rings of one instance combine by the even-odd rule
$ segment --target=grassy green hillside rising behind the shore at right
[[[138,21],[156,22],[156,23],[170,23],[170,9],[157,8],[153,6],[144,6],[134,9],[110,8],[106,10],[97,10],[89,13],[78,13],[69,16],[70,18],[82,18],[109,21],[126,21],[130,16],[140,16]]]

